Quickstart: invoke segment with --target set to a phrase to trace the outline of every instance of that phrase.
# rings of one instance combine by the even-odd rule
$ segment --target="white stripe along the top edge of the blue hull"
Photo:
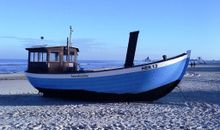
[[[121,75],[121,74],[128,74],[133,72],[140,72],[140,71],[149,71],[156,68],[161,68],[165,66],[169,66],[180,62],[186,59],[188,56],[183,55],[181,57],[167,60],[160,63],[154,63],[150,65],[143,65],[137,66],[132,68],[124,68],[124,69],[116,69],[110,71],[100,71],[100,72],[90,72],[90,73],[78,73],[78,74],[36,74],[36,73],[26,73],[28,77],[34,78],[50,78],[50,79],[66,79],[66,78],[95,78],[95,77],[104,77],[104,76],[114,76],[114,75]]]

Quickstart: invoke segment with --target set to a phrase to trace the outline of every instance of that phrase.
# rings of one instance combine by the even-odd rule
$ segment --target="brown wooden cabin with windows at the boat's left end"
[[[30,73],[71,73],[77,71],[79,49],[68,46],[26,48]]]

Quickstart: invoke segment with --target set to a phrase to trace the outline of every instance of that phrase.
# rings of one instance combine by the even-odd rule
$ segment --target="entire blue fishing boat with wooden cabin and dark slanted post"
[[[139,31],[130,32],[124,67],[83,70],[78,66],[79,49],[71,44],[72,29],[65,46],[26,48],[30,83],[43,95],[77,99],[153,101],[171,92],[181,81],[190,51],[174,57],[134,65]]]

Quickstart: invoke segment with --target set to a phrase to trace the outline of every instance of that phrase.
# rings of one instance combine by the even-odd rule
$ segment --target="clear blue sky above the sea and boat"
[[[72,25],[80,59],[124,60],[140,30],[136,60],[174,56],[220,60],[218,0],[1,0],[0,58],[25,59],[25,47],[64,45]]]

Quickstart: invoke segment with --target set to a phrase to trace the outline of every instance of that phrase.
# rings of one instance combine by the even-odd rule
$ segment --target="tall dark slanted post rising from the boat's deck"
[[[134,56],[137,46],[137,39],[138,39],[139,31],[130,32],[129,42],[128,42],[128,49],[127,55],[125,59],[124,67],[132,67],[134,65]]]

